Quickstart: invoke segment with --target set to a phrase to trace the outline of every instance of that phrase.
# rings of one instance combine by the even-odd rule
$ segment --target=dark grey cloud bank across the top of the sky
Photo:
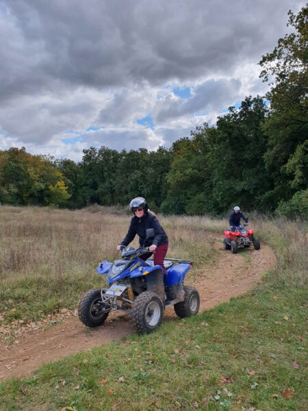
[[[284,5],[281,6],[281,3]],[[4,92],[53,81],[93,87],[224,73],[272,45],[292,2],[3,1]],[[279,5],[279,7],[277,7]],[[10,71],[14,75],[10,76]]]

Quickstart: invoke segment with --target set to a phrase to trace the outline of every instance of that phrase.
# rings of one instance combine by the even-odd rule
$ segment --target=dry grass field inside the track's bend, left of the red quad
[[[199,219],[159,219],[169,236],[170,258],[191,259],[196,266],[214,258],[213,240]],[[1,206],[0,314],[27,321],[77,306],[84,291],[103,284],[95,268],[119,257],[116,245],[129,221],[121,210],[101,206],[77,211]]]

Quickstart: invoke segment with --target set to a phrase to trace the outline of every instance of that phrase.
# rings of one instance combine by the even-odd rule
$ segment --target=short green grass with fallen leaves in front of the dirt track
[[[277,291],[259,287],[149,336],[11,379],[0,386],[2,409],[304,409],[306,293]]]

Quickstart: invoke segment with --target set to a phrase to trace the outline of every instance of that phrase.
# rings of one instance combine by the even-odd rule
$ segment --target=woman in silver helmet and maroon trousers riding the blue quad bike
[[[148,203],[143,197],[136,197],[132,199],[129,203],[129,209],[133,213],[131,218],[131,224],[129,225],[129,230],[120,243],[116,246],[117,250],[120,250],[121,246],[127,246],[136,234],[139,236],[140,247],[149,247],[149,251],[155,251],[154,253],[154,264],[160,265],[163,268],[164,274],[166,274],[166,269],[164,267],[164,258],[168,250],[168,237],[162,225],[160,225],[157,217],[149,210]],[[146,238],[146,230],[149,228],[154,229],[154,237]],[[146,260],[152,256],[152,253],[145,253],[140,256],[142,260]]]

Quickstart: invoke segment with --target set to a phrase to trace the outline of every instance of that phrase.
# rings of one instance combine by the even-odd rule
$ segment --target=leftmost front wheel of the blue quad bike
[[[103,324],[109,314],[109,312],[104,312],[103,308],[101,290],[89,290],[79,302],[79,320],[88,327],[98,327]]]

